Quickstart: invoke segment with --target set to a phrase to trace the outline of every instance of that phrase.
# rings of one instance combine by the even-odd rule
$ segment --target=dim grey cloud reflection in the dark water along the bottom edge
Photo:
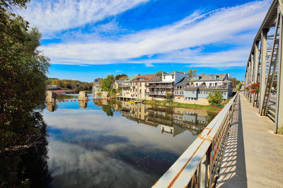
[[[54,187],[148,187],[158,180],[105,151],[87,151],[55,140],[49,149]]]

